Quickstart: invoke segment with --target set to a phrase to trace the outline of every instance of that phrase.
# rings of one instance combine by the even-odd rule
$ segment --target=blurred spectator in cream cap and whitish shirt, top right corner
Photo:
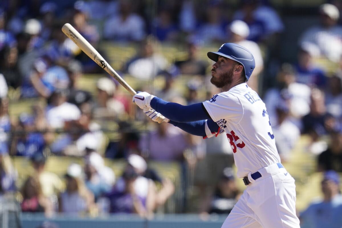
[[[339,18],[340,12],[336,6],[329,3],[320,5],[320,24],[304,31],[299,43],[313,43],[318,47],[321,56],[338,62],[342,54],[342,27],[337,25]]]

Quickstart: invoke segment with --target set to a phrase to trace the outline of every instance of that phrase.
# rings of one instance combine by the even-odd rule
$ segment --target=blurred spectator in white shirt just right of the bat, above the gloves
[[[165,71],[168,67],[166,59],[156,52],[159,43],[153,37],[147,37],[141,42],[139,53],[131,58],[124,71],[131,76],[148,80]]]

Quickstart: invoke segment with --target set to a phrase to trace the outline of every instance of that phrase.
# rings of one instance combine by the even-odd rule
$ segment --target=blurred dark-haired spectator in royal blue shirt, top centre
[[[173,22],[172,14],[169,9],[161,9],[155,18],[154,29],[155,36],[159,41],[172,42],[178,38],[178,29]]]

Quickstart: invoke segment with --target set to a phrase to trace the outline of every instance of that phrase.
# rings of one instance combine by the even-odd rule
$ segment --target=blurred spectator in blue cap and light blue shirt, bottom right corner
[[[312,202],[300,214],[303,228],[340,228],[342,226],[342,196],[340,176],[332,170],[323,174],[321,182],[323,200]]]

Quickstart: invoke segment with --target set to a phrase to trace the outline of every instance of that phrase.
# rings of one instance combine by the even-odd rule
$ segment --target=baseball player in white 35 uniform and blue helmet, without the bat
[[[246,84],[255,67],[246,48],[225,43],[208,52],[215,61],[211,83],[222,90],[210,100],[182,106],[147,92],[133,96],[152,120],[167,121],[184,131],[210,138],[226,134],[237,176],[246,190],[223,223],[224,228],[299,228],[294,179],[280,163],[265,104]]]

